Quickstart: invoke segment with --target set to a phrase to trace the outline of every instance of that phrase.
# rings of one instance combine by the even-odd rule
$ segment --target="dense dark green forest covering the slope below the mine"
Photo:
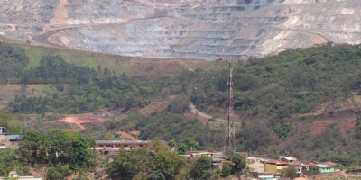
[[[8,104],[14,114],[121,110],[129,113],[124,120],[91,124],[81,133],[139,130],[141,139],[178,141],[191,136],[202,148],[223,146],[223,127],[209,127],[184,114],[190,111],[190,102],[209,113],[227,106],[227,63],[215,62],[210,70],[184,70],[173,76],[118,76],[106,67],[76,66],[59,56],[43,56],[39,66],[28,67],[22,49],[1,43],[0,48],[2,84],[51,84],[56,88],[42,97],[17,96]],[[360,163],[360,119],[347,135],[330,124],[320,134],[304,130],[297,136],[289,120],[321,104],[347,101],[361,93],[361,45],[329,43],[250,58],[234,65],[234,83],[235,112],[243,120],[236,132],[237,150],[269,157],[296,154],[330,159],[344,166]],[[170,95],[181,98],[160,112],[141,115],[132,111]],[[105,138],[101,133],[96,137]],[[294,143],[278,146],[286,139]]]

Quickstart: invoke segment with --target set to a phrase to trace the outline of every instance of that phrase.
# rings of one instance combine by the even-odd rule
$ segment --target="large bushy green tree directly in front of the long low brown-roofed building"
[[[146,153],[145,149],[135,149],[131,152],[122,149],[108,166],[107,173],[113,179],[131,180],[146,163],[148,159]]]

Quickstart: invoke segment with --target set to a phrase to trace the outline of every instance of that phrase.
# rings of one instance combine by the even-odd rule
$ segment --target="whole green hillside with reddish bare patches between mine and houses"
[[[169,72],[159,66],[168,61],[137,61],[136,67],[154,63],[147,73],[134,67],[139,58],[0,47],[0,67],[6,67],[0,82],[8,88],[0,91],[0,102],[25,128],[77,130],[96,139],[126,138],[119,131],[140,139],[191,136],[202,148],[223,147],[225,124],[216,119],[225,114],[226,63],[169,61],[179,69]],[[360,49],[329,43],[235,64],[237,150],[358,162]],[[131,70],[116,72],[125,67]],[[190,102],[215,118],[192,114]]]

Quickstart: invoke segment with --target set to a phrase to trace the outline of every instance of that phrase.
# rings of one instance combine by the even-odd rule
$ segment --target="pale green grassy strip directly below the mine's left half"
[[[182,69],[209,69],[214,64],[211,61],[201,60],[133,58],[70,49],[53,49],[24,44],[1,36],[0,41],[24,49],[29,58],[29,65],[26,68],[37,67],[42,57],[46,55],[58,55],[74,65],[93,67],[96,70],[98,66],[107,67],[115,76],[123,74],[127,76],[167,76],[180,72]]]

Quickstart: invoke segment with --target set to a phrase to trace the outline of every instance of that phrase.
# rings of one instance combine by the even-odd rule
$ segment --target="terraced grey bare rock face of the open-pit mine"
[[[361,42],[359,0],[2,0],[0,34],[150,58],[262,57]]]

